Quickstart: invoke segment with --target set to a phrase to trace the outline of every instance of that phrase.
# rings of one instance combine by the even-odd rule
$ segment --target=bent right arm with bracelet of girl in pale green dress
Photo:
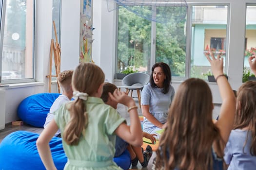
[[[109,96],[112,100],[126,105],[128,109],[132,108],[128,111],[130,115],[130,126],[126,125],[123,122],[115,130],[115,133],[131,145],[138,147],[141,146],[143,143],[142,130],[140,120],[138,118],[137,107],[133,108],[134,106],[136,106],[133,98],[127,96],[126,93],[119,90],[115,90],[113,95],[109,93]]]

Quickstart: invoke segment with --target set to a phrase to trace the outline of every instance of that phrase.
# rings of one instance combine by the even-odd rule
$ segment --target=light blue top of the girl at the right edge
[[[251,131],[249,131],[249,136],[244,147],[247,132],[247,130],[241,129],[231,131],[224,152],[224,160],[229,165],[228,170],[256,170],[256,156],[252,156],[250,153],[252,142]]]

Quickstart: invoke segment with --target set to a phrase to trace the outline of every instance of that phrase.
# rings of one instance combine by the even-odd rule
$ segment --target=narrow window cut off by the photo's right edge
[[[246,32],[244,52],[244,73],[243,82],[249,79],[253,73],[250,70],[248,57],[256,54],[256,5],[246,7]]]

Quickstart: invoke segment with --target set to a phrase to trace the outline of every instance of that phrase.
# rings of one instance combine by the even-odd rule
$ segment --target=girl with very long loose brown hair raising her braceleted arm
[[[206,55],[219,87],[222,105],[212,121],[211,89],[204,80],[190,78],[177,90],[167,127],[157,151],[157,170],[222,170],[223,151],[234,125],[236,98],[223,74],[223,58]]]

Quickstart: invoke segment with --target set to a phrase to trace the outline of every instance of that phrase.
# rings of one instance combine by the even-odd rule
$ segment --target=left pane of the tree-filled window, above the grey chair
[[[151,22],[119,7],[117,72],[129,67],[147,72],[150,68],[150,55]]]

